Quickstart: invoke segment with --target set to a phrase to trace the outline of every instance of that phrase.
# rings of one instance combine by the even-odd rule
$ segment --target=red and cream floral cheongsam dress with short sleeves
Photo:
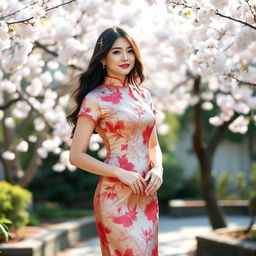
[[[156,110],[146,88],[138,89],[116,77],[90,91],[78,116],[95,121],[105,144],[105,163],[143,177],[151,169],[148,142]],[[100,176],[94,214],[103,256],[158,255],[157,194],[140,196],[117,178]]]

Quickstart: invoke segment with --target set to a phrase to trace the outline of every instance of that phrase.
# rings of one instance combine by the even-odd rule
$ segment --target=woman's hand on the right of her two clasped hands
[[[153,195],[162,185],[163,183],[163,168],[155,166],[153,167],[146,175],[145,180],[147,181],[150,178],[150,182],[148,183],[145,194]]]

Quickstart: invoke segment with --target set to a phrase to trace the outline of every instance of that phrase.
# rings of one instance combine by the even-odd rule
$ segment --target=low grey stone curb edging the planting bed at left
[[[76,242],[97,236],[94,217],[74,219],[39,230],[38,234],[21,242],[0,244],[0,255],[56,256]]]

